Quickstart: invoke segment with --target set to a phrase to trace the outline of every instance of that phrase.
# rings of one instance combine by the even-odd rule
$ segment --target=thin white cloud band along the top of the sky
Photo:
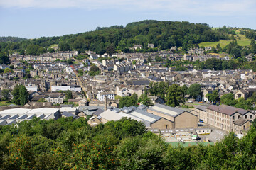
[[[255,15],[255,0],[1,0],[4,8],[85,8],[192,15]]]

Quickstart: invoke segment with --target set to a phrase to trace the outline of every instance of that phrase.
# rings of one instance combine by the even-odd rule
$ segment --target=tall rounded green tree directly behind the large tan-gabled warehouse
[[[172,84],[167,90],[166,105],[175,107],[180,106],[180,103],[185,103],[181,87],[178,84]]]

